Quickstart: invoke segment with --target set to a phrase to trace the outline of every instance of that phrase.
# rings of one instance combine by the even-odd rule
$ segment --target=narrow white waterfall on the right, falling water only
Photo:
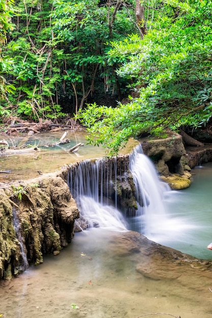
[[[130,155],[129,168],[133,175],[138,204],[135,218],[129,221],[133,230],[149,238],[166,219],[163,199],[170,188],[167,183],[159,180],[154,164],[143,154],[141,145]]]

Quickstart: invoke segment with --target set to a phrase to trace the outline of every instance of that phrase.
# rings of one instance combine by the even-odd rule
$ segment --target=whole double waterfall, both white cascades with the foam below
[[[127,168],[123,172],[123,179]],[[129,215],[130,209],[127,213],[126,210],[120,212],[117,209],[116,183],[119,173],[115,158],[93,163],[83,161],[71,169],[68,181],[70,191],[89,227],[133,230],[161,244],[188,240],[189,231],[195,225],[185,222],[185,218],[167,213],[165,202],[170,200],[174,192],[159,180],[154,164],[143,154],[141,145],[130,155],[129,169],[136,188],[138,207],[132,215]]]

